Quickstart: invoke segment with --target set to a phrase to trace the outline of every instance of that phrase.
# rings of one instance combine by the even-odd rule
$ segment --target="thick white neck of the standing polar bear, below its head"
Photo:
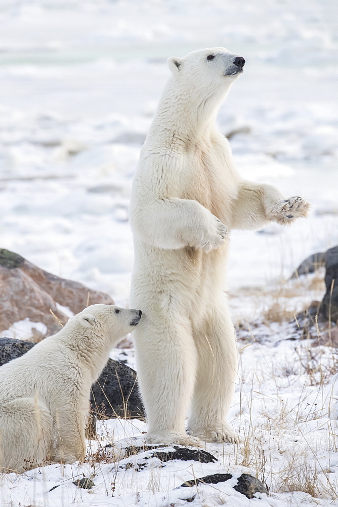
[[[153,140],[191,142],[207,135],[215,126],[219,107],[229,92],[205,90],[196,92],[180,86],[175,80],[167,82],[149,133]]]

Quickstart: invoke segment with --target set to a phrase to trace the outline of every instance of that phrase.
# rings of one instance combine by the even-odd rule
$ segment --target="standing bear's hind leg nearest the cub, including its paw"
[[[149,315],[146,309],[144,313]],[[199,446],[199,439],[185,430],[197,362],[189,319],[147,316],[134,339],[148,420],[146,442]]]

